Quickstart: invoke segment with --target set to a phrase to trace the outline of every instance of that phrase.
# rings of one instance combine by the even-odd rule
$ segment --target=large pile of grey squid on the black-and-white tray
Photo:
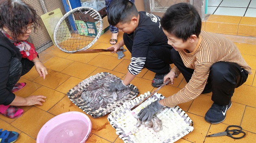
[[[93,80],[91,84],[82,91],[82,99],[84,99],[87,106],[92,109],[99,109],[100,107],[104,108],[108,103],[127,99],[128,97],[126,95],[130,93],[129,87],[121,91],[114,91],[113,93],[108,92],[108,87],[111,82],[119,80],[119,78],[111,75],[106,75],[102,78]]]

